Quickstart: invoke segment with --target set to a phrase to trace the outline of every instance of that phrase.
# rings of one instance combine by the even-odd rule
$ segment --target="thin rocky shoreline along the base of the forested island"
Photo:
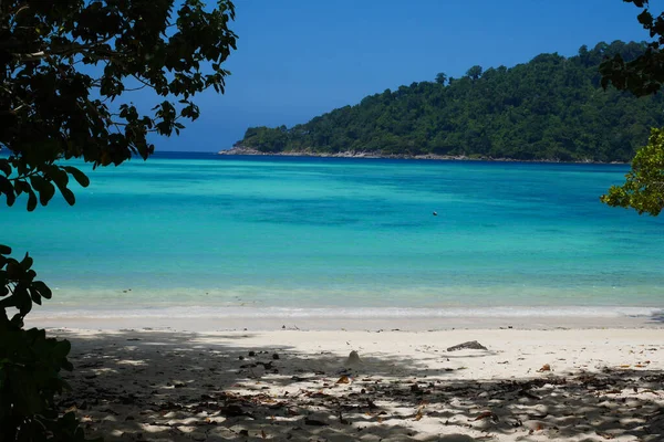
[[[513,158],[492,158],[479,157],[471,158],[465,155],[380,155],[375,152],[345,150],[335,154],[314,152],[309,150],[303,151],[281,151],[281,152],[263,152],[249,147],[232,147],[227,150],[219,150],[217,155],[234,156],[249,155],[261,157],[318,157],[318,158],[369,158],[369,159],[424,159],[434,161],[496,161],[496,162],[551,162],[551,164],[570,164],[570,165],[629,165],[622,161],[563,161],[558,159],[513,159]]]

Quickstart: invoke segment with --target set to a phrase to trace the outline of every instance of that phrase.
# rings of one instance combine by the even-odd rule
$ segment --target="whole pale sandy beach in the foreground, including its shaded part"
[[[509,327],[50,333],[108,441],[664,440],[661,324]]]

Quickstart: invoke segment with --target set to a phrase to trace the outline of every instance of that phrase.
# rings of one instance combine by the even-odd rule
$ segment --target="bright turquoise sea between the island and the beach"
[[[74,208],[2,209],[1,242],[48,314],[641,312],[664,218],[599,202],[626,170],[162,155],[91,171]]]

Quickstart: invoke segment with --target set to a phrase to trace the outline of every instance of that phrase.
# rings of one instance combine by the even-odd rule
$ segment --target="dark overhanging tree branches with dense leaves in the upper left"
[[[195,120],[194,97],[224,92],[221,64],[236,49],[235,7],[220,0],[7,0],[0,2],[0,193],[11,206],[45,204],[58,189],[70,203],[59,160],[120,165],[154,151],[149,134],[179,134]],[[129,96],[149,92],[152,109]],[[152,99],[152,98],[151,98]],[[147,107],[147,106],[146,106]]]

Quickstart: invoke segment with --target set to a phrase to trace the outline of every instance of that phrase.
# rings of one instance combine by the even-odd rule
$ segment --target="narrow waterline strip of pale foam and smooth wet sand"
[[[247,309],[242,315],[225,315],[224,309],[208,315],[186,316],[177,309],[169,314],[153,314],[141,311],[126,311],[91,314],[71,311],[68,314],[33,311],[25,319],[27,326],[46,328],[96,328],[96,329],[177,329],[186,332],[252,330],[270,332],[281,329],[331,332],[331,330],[403,330],[433,332],[453,329],[660,329],[664,328],[664,314],[653,309],[651,314],[611,315],[454,315],[454,316],[292,316],[284,314],[252,315]]]

